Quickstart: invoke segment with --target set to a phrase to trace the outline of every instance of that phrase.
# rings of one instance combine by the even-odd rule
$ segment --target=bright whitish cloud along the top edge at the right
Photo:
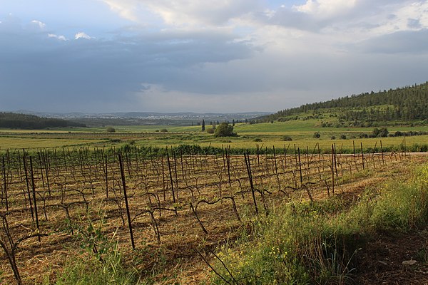
[[[260,25],[277,25],[358,38],[409,29],[408,19],[428,26],[427,0],[307,0],[292,8],[253,13]]]

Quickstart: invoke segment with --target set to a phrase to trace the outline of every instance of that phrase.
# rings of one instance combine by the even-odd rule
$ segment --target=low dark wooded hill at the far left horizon
[[[86,127],[86,125],[70,120],[0,112],[0,128],[44,129],[56,127]]]

